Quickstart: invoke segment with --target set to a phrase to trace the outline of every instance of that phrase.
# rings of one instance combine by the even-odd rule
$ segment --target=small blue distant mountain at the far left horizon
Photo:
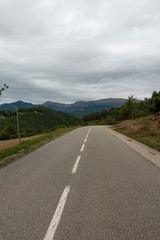
[[[33,106],[34,105],[32,103],[17,101],[13,103],[4,103],[0,105],[0,110],[15,110],[16,108],[27,108],[27,107],[33,107]]]

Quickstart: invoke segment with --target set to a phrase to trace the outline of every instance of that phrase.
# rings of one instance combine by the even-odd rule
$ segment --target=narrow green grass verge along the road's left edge
[[[8,148],[4,151],[0,151],[0,168],[7,166],[15,160],[23,157],[25,154],[30,153],[44,144],[54,140],[55,138],[68,133],[77,127],[60,128],[53,132],[47,133],[43,136],[21,142],[14,147]]]

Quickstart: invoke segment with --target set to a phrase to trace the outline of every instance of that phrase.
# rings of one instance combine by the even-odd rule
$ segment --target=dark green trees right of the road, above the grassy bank
[[[154,91],[151,98],[145,98],[143,101],[130,96],[120,108],[85,115],[82,122],[83,125],[114,125],[124,120],[138,119],[157,112],[160,112],[160,91]]]

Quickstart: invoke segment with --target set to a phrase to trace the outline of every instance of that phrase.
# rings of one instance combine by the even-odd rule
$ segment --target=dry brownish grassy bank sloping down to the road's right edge
[[[159,113],[134,121],[124,121],[115,126],[114,130],[160,152]]]

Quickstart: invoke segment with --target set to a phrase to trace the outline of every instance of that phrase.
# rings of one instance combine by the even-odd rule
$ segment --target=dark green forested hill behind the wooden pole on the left
[[[0,138],[17,137],[15,111],[0,111]],[[19,124],[22,137],[32,136],[51,131],[61,125],[74,126],[79,119],[69,113],[58,112],[44,106],[19,109]],[[10,137],[8,137],[8,134]]]

